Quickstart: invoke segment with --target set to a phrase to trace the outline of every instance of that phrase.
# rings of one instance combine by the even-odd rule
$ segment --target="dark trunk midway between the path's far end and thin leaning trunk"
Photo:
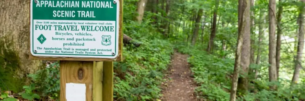
[[[219,0],[216,0],[215,1],[216,4],[215,4],[215,10],[214,10],[214,14],[213,14],[213,24],[212,24],[212,28],[211,28],[211,35],[210,35],[210,40],[209,40],[209,44],[208,44],[208,47],[206,49],[206,51],[208,53],[211,52],[211,49],[213,47],[213,44],[214,44],[214,38],[215,38],[215,35],[216,35],[216,21],[217,21],[217,10],[218,10],[218,5],[219,5]]]

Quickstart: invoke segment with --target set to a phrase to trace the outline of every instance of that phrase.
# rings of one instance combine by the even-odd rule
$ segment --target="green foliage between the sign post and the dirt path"
[[[140,26],[145,26],[145,28]],[[134,29],[129,29],[129,27]],[[156,34],[160,36],[160,33],[149,31],[153,29],[150,29],[145,22],[126,24],[125,28],[134,32],[130,36],[136,37],[142,45],[137,48],[133,48],[131,45],[124,47],[124,61],[114,62],[115,99],[145,101],[159,98],[163,71],[167,69],[173,52],[172,45],[158,36],[153,37]]]

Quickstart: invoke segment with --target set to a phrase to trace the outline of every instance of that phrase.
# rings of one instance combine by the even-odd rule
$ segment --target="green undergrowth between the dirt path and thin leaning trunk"
[[[197,46],[177,45],[176,49],[190,55],[188,62],[192,65],[194,80],[200,85],[195,89],[196,95],[210,101],[228,101],[230,94],[226,90],[231,88],[229,76],[233,73],[234,60],[208,55]]]

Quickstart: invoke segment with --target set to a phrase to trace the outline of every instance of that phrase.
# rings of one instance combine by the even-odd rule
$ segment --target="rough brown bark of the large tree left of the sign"
[[[13,45],[7,45],[7,43],[2,45],[8,48],[6,50],[17,52],[15,55],[19,56],[19,63],[16,64],[20,66],[20,71],[18,71],[20,77],[28,73],[34,73],[42,63],[41,60],[29,59],[29,1],[1,1],[0,8],[0,41],[13,43]],[[2,49],[0,49],[0,56],[4,56],[1,51]]]

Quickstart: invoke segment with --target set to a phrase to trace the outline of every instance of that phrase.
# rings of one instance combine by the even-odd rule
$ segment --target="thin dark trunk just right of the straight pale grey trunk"
[[[278,0],[278,3],[281,4],[281,0]],[[282,35],[282,29],[281,29],[281,20],[282,20],[282,12],[283,12],[283,6],[280,5],[278,7],[278,16],[277,16],[277,36],[276,36],[276,75],[278,78],[278,73],[280,69],[280,59],[281,59],[281,35]]]

